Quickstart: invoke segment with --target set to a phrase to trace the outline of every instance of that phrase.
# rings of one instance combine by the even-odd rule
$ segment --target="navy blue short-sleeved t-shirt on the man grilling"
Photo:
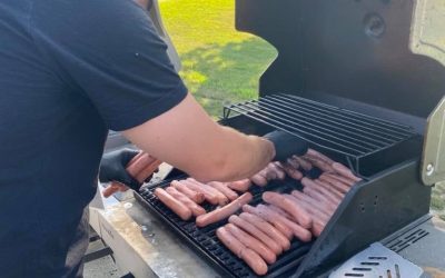
[[[73,275],[108,130],[187,95],[166,48],[132,0],[0,1],[1,277]]]

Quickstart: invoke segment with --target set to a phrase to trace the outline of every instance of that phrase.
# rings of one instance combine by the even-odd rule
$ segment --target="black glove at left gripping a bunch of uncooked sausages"
[[[100,182],[118,181],[127,187],[138,190],[140,183],[126,170],[128,162],[138,155],[136,150],[115,150],[103,155],[99,168]]]

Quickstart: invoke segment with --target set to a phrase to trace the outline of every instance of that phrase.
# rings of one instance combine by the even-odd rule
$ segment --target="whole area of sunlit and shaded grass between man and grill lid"
[[[160,0],[165,27],[182,62],[188,89],[214,117],[222,106],[251,99],[276,56],[254,36],[235,30],[234,0]]]

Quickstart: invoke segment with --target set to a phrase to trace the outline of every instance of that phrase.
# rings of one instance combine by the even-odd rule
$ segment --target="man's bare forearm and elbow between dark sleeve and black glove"
[[[201,181],[250,177],[275,156],[270,141],[216,123],[191,95],[123,135],[142,150]]]

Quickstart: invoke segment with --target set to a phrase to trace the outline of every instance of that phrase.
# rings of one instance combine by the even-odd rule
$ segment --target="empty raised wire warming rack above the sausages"
[[[291,95],[225,107],[348,158],[358,159],[417,136],[413,128]]]

